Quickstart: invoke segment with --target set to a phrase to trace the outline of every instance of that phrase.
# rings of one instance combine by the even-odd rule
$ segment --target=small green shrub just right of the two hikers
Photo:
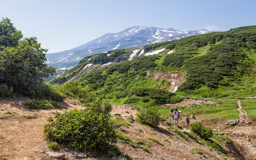
[[[201,122],[192,123],[190,131],[197,133],[201,138],[209,139],[213,136],[212,129],[205,127]]]

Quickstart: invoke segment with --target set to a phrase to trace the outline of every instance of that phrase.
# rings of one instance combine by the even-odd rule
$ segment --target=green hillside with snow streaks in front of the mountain
[[[180,95],[256,94],[256,26],[90,55],[51,83],[80,82],[116,94],[157,87]]]

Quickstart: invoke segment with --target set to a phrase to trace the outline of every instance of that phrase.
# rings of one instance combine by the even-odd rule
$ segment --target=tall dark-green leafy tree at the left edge
[[[44,61],[46,49],[41,48],[35,37],[22,38],[10,19],[0,21],[0,86],[7,92],[37,97],[44,87],[43,77],[49,77],[55,69]]]

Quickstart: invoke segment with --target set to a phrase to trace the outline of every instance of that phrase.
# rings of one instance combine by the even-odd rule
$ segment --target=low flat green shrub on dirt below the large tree
[[[25,105],[30,109],[54,109],[60,106],[55,102],[41,100],[27,100]]]

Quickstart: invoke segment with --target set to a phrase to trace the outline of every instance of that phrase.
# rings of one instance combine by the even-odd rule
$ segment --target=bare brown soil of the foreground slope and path
[[[53,116],[56,110],[63,113],[65,110],[81,109],[82,104],[79,101],[74,104],[74,100],[65,99],[64,102],[59,102],[59,105],[62,106],[60,109],[35,110],[27,109],[24,105],[25,100],[26,98],[23,97],[0,100],[0,159],[55,159],[47,154],[51,149],[43,135],[43,126],[47,123],[46,117]],[[197,104],[201,101],[184,101],[175,105],[182,106],[189,102]],[[120,114],[121,117],[127,120],[130,116],[135,118],[136,112],[135,108],[127,105],[113,105],[111,115]],[[207,123],[213,124],[214,122],[209,121]],[[182,129],[182,127],[185,127],[183,121],[179,125],[182,131],[187,131]],[[156,130],[151,130],[138,122],[130,123],[129,127],[121,126],[119,130],[133,139],[137,147],[133,148],[129,143],[122,140],[119,140],[116,145],[133,159],[205,159],[194,148],[202,151],[207,158],[223,159],[223,155],[216,153],[215,150],[209,150],[206,145],[194,140],[185,140],[171,130],[166,129],[167,126],[166,122],[161,122]],[[227,135],[233,140],[228,144],[230,151],[226,148],[227,159],[256,159],[255,122],[252,122],[251,125],[244,124],[236,127],[220,127],[222,124],[216,124],[215,126],[215,129],[218,129],[214,131],[216,134]],[[172,139],[166,137],[166,134]],[[146,139],[147,137],[157,139],[164,146]],[[246,140],[247,137],[251,141]],[[150,143],[150,153],[139,148],[138,140]],[[65,154],[65,159],[75,159],[74,156],[68,155],[72,151],[70,148],[62,147],[56,153]],[[98,155],[84,154],[87,154],[88,158],[91,159],[110,159],[107,155],[100,153]]]

